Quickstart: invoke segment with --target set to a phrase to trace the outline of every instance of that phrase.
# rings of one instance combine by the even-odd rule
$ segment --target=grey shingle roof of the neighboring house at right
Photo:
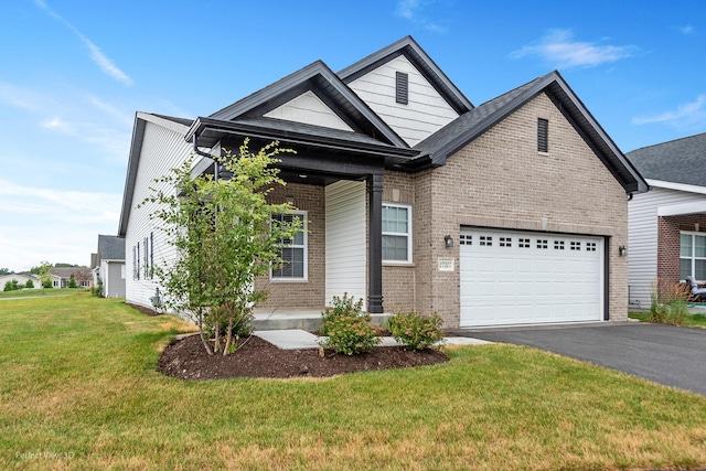
[[[635,149],[625,156],[646,179],[706,186],[706,132]]]

